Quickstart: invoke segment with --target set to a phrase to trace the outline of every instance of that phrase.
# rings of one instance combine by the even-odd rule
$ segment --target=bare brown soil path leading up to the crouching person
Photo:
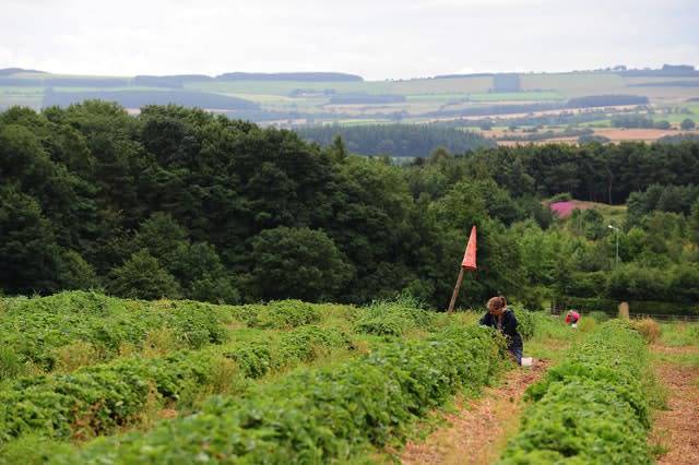
[[[420,443],[408,442],[399,458],[406,465],[494,463],[519,428],[524,390],[543,377],[548,365],[534,360],[531,367],[507,373],[501,385],[486,389],[481,398],[458,401],[455,413],[443,414],[449,427]]]

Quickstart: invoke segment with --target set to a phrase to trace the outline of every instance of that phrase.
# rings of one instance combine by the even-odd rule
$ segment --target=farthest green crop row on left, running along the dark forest
[[[142,349],[151,334],[163,329],[171,330],[173,347],[198,348],[225,341],[222,323],[230,320],[248,327],[288,330],[317,323],[325,317],[324,306],[299,300],[215,306],[181,300],[117,299],[91,291],[12,298],[3,303],[7,308],[0,314],[3,354],[12,356],[14,367],[29,362],[44,372],[60,366],[66,350],[85,351],[81,343],[88,345],[88,356],[83,358],[93,362],[109,361],[123,351],[125,345]],[[355,332],[378,335],[403,335],[415,327],[434,330],[436,321],[433,312],[418,309],[415,302],[405,299],[350,308],[346,313],[355,322]],[[0,366],[4,365],[0,360]],[[21,373],[20,369],[0,369],[0,380]]]

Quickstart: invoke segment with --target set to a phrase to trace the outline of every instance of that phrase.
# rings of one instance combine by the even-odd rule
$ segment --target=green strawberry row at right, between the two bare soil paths
[[[605,323],[530,386],[534,403],[501,464],[651,463],[647,346],[623,320]]]

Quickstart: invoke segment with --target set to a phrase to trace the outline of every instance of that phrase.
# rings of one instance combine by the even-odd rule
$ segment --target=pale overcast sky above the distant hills
[[[699,68],[698,0],[0,0],[0,69],[369,81]]]

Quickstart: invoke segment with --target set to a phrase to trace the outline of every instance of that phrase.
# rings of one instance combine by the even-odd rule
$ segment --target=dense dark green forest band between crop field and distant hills
[[[443,309],[476,225],[459,306],[501,293],[697,311],[698,142],[437,148],[400,166],[351,152],[179,106],[12,107],[0,289],[230,303],[410,293]],[[628,204],[620,234],[594,208],[552,216],[544,200],[560,193]]]

